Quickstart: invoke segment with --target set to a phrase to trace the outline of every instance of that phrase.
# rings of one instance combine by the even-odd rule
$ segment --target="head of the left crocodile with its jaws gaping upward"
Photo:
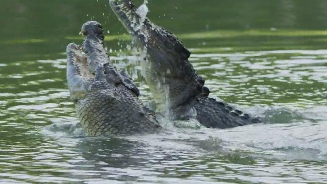
[[[81,34],[86,36],[81,45],[71,43],[67,46],[67,81],[71,97],[78,100],[90,89],[97,90],[94,89],[96,85],[93,83],[98,81],[105,81],[112,86],[122,84],[139,96],[140,91],[132,79],[110,65],[103,47],[104,34],[101,24],[88,21],[82,26]]]

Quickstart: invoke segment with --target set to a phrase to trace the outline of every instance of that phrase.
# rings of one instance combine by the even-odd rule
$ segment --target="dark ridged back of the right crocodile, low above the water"
[[[227,129],[261,122],[224,102],[214,98],[201,98],[195,105],[198,121],[207,128]]]

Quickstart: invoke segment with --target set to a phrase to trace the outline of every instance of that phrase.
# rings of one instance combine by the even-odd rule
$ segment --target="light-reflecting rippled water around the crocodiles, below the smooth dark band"
[[[160,134],[117,138],[89,138],[79,127],[66,59],[0,64],[0,183],[325,182],[325,58],[326,50],[194,53],[211,96],[265,124],[191,130],[163,119]],[[111,59],[151,104],[139,58]]]

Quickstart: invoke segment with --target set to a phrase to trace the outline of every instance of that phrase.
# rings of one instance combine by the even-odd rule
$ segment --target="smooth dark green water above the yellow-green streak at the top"
[[[143,1],[135,2],[140,5]],[[3,0],[2,7],[1,15],[7,17],[1,20],[5,26],[1,30],[2,38],[75,35],[81,22],[90,19],[103,22],[114,34],[122,32],[106,0]],[[327,2],[319,0],[150,0],[149,17],[177,33],[217,29],[321,30],[327,26],[326,7]]]

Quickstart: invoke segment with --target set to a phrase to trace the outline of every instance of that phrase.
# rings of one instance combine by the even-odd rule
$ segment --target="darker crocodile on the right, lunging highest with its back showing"
[[[174,120],[196,117],[207,128],[233,128],[261,122],[209,97],[205,80],[188,61],[190,51],[168,30],[152,23],[132,0],[109,0],[120,22],[143,50],[142,71],[154,101]],[[144,8],[144,7],[143,7]]]

